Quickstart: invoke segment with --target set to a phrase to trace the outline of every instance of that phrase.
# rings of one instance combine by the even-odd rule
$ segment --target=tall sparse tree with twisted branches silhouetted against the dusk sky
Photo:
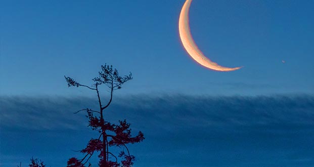
[[[92,87],[88,87],[86,85],[81,85],[79,82],[74,79],[64,76],[69,87],[85,87],[90,90],[93,90],[97,93],[99,110],[93,110],[90,108],[82,109],[76,111],[78,113],[80,111],[85,111],[87,113],[86,117],[88,117],[88,127],[91,127],[92,130],[98,131],[100,133],[99,137],[89,140],[87,146],[80,150],[85,156],[81,159],[77,159],[72,157],[68,160],[68,167],[83,167],[92,157],[94,152],[100,152],[98,157],[99,166],[101,167],[117,167],[117,166],[131,166],[133,164],[134,156],[130,155],[129,150],[126,146],[128,143],[138,143],[143,141],[144,135],[140,131],[137,136],[131,136],[130,124],[126,122],[126,120],[119,120],[119,124],[113,124],[104,119],[104,110],[111,104],[113,92],[115,90],[121,89],[122,85],[132,79],[132,74],[124,75],[123,77],[119,76],[119,73],[116,69],[112,68],[112,65],[109,66],[107,64],[101,66],[101,71],[99,71],[99,76],[95,77],[93,81],[95,82]],[[106,103],[106,105],[102,104],[99,86],[105,85],[110,90],[110,99]],[[124,149],[118,154],[109,151],[109,147],[124,147]],[[121,162],[118,162],[118,157],[121,159]],[[111,159],[114,159],[112,161]],[[88,164],[91,166],[91,163]]]

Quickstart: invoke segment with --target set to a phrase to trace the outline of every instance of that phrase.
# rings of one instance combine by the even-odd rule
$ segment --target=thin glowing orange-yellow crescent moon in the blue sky
[[[199,64],[216,71],[234,71],[240,69],[241,67],[229,68],[218,65],[212,62],[200,51],[200,49],[195,44],[195,41],[191,35],[190,25],[189,25],[189,9],[192,0],[187,0],[182,7],[180,18],[179,18],[179,33],[182,44],[187,50],[189,55]]]

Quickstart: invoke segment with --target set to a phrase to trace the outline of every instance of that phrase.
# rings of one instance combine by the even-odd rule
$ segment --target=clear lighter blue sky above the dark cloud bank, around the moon
[[[191,31],[205,56],[244,66],[228,73],[203,68],[185,52],[177,30],[183,3],[2,2],[2,92],[69,95],[63,75],[92,84],[104,63],[133,73],[124,93],[313,91],[312,1],[194,1]]]

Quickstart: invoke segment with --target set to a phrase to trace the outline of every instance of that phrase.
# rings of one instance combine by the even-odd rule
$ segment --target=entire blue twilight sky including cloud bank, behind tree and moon
[[[82,156],[96,136],[72,113],[95,93],[64,75],[91,86],[105,63],[133,74],[107,116],[146,135],[134,166],[314,166],[314,1],[194,0],[196,44],[232,72],[186,53],[184,2],[1,1],[0,166]]]

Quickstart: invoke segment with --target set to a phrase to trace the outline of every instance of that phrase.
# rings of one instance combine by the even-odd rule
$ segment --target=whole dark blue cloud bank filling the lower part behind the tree
[[[25,164],[32,155],[64,166],[75,154],[71,149],[95,137],[84,113],[73,112],[97,109],[96,99],[1,97],[0,105],[2,166],[20,159]],[[144,142],[129,146],[136,166],[314,165],[310,95],[116,97],[105,116],[112,122],[125,118],[135,133],[143,131]]]

